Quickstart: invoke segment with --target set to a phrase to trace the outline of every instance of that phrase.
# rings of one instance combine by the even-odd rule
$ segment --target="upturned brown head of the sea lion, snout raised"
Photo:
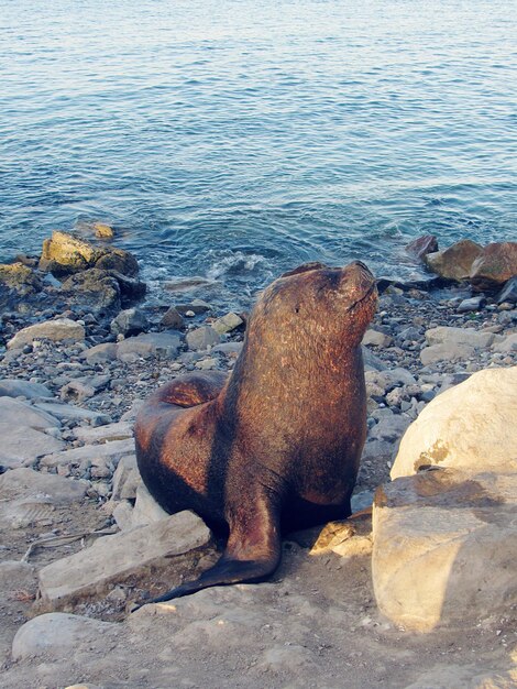
[[[361,261],[344,267],[309,263],[285,273],[264,291],[249,330],[264,326],[270,332],[296,332],[301,341],[334,338],[343,347],[356,346],[376,305],[375,278]]]

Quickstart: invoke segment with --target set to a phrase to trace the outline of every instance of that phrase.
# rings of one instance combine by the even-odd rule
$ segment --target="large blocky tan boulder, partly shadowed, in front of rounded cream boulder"
[[[415,632],[505,615],[517,597],[517,474],[444,469],[377,489],[372,577],[382,613]]]

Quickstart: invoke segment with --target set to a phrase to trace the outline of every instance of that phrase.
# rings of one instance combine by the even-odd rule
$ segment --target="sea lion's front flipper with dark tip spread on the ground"
[[[142,605],[163,603],[209,587],[262,581],[275,571],[280,560],[278,514],[265,497],[253,504],[245,500],[243,503],[229,511],[230,536],[218,562],[198,579],[182,583]],[[141,605],[133,612],[139,608]]]

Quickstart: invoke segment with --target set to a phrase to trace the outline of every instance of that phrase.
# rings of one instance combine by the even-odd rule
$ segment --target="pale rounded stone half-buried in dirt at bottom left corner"
[[[12,642],[13,660],[44,656],[48,659],[76,655],[85,646],[102,639],[116,641],[120,625],[65,613],[47,613],[25,622]]]

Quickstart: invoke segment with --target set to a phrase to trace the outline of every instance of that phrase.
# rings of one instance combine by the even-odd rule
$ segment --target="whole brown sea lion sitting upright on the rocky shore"
[[[376,302],[359,261],[300,266],[262,293],[229,379],[179,376],[144,405],[135,442],[150,493],[228,533],[212,568],[148,602],[260,581],[279,562],[282,529],[350,515],[366,436],[361,340]]]

